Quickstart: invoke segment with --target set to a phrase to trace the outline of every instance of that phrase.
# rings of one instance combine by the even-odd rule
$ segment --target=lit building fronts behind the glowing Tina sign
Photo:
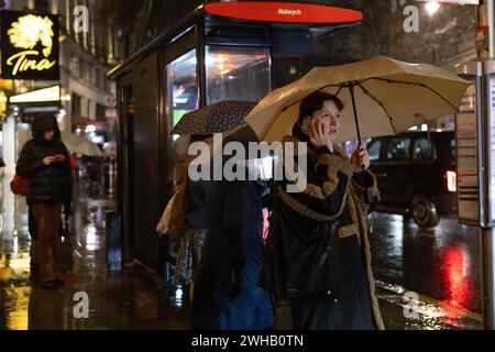
[[[0,79],[0,156],[6,162],[3,168],[4,205],[14,208],[6,211],[7,218],[15,218],[23,200],[11,201],[10,180],[15,172],[15,162],[23,144],[31,138],[31,119],[36,113],[46,112],[46,105],[30,103],[29,109],[8,103],[9,98],[46,87],[61,86],[61,97],[50,112],[56,113],[64,131],[75,131],[78,125],[98,124],[105,134],[95,133],[95,127],[77,132],[86,134],[96,143],[103,143],[111,135],[114,121],[114,88],[106,73],[116,64],[114,37],[112,29],[113,1],[97,0],[3,0],[1,11],[23,11],[32,14],[52,14],[58,18],[59,79]],[[92,133],[92,134],[91,134]],[[103,138],[105,136],[105,138]],[[12,217],[9,217],[12,215]],[[15,221],[9,222],[14,227]]]

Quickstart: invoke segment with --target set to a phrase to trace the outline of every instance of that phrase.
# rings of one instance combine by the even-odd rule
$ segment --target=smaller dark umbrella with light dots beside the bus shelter
[[[212,134],[230,130],[244,122],[256,103],[223,100],[185,113],[170,134]]]

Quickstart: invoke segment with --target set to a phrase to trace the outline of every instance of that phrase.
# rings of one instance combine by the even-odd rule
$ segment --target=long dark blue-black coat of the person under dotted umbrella
[[[275,323],[268,292],[257,285],[263,254],[264,186],[208,183],[209,230],[195,279],[193,329],[263,330]]]

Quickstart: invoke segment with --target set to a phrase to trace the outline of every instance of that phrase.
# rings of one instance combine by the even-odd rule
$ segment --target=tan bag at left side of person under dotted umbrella
[[[165,211],[156,226],[156,232],[160,234],[167,234],[174,239],[178,239],[184,230],[184,213],[183,213],[183,196],[186,189],[185,184],[177,186],[177,189],[168,200]]]

